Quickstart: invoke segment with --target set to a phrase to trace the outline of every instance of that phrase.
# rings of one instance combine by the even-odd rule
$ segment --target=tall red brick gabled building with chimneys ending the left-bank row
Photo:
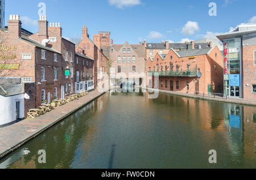
[[[94,59],[94,87],[102,83],[104,87],[102,73],[108,73],[108,57],[101,50],[101,36],[94,35],[93,41],[90,40],[86,25],[82,28],[82,40],[76,46],[76,50],[84,50],[84,53]]]

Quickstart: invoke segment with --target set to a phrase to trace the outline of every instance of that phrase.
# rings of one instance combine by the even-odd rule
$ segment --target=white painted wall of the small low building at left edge
[[[24,93],[15,96],[0,96],[0,126],[16,121],[16,102],[19,101],[19,117],[24,118]]]

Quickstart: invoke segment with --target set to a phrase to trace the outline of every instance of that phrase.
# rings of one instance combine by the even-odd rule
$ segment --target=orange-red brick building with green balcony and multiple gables
[[[223,86],[223,63],[220,50],[215,48],[156,53],[147,61],[148,85],[168,91],[184,93],[221,93]],[[155,72],[159,84],[155,84]]]

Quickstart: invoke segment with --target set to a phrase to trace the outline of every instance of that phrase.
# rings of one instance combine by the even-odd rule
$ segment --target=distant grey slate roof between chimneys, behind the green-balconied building
[[[169,43],[169,49],[187,49],[187,45],[185,43]],[[195,43],[195,49],[199,49],[201,45],[201,49],[209,48],[207,43]],[[165,43],[147,43],[146,49],[166,49]]]

